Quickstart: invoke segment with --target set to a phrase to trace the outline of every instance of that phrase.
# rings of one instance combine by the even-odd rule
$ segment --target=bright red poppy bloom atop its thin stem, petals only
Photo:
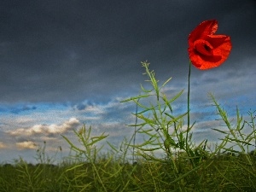
[[[206,20],[189,34],[189,58],[199,69],[220,66],[230,55],[230,37],[214,35],[218,29],[217,20]]]

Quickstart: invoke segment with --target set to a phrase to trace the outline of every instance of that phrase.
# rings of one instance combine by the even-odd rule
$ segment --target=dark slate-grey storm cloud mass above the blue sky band
[[[233,44],[224,68],[238,68],[255,55],[255,10],[231,0],[4,1],[0,101],[109,102],[137,93],[144,60],[163,79],[184,79],[189,32],[213,18]]]

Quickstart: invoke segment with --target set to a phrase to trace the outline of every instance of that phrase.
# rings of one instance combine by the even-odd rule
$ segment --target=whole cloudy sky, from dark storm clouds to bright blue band
[[[186,110],[188,36],[203,20],[218,20],[229,35],[227,61],[211,70],[191,68],[191,121],[197,142],[220,136],[211,92],[230,118],[236,106],[247,117],[256,109],[256,1],[1,1],[0,162],[35,160],[47,151],[65,156],[73,130],[92,127],[114,146],[131,137],[136,105],[120,102],[148,86],[141,61],[150,62],[166,95],[183,95]],[[140,110],[138,108],[138,110]],[[136,143],[142,142],[138,138]]]

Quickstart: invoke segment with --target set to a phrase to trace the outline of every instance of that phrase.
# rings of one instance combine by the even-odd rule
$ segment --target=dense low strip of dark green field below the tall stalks
[[[256,154],[221,154],[192,168],[189,161],[140,160],[122,164],[111,157],[95,163],[0,166],[0,191],[255,191]],[[252,164],[248,165],[245,159]],[[174,171],[174,164],[177,172]]]

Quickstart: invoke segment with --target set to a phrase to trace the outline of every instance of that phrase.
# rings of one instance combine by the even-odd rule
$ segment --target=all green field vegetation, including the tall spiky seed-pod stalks
[[[130,126],[135,126],[136,131],[130,140],[124,139],[114,147],[104,143],[108,135],[91,137],[91,127],[84,125],[74,130],[79,144],[62,136],[70,145],[71,154],[58,165],[52,164],[54,157],[47,156],[45,143],[37,150],[37,165],[21,158],[14,165],[1,165],[0,192],[256,191],[256,111],[249,111],[249,120],[245,120],[237,108],[236,119],[230,120],[210,95],[224,124],[222,130],[213,130],[223,137],[213,147],[207,139],[196,144],[191,131],[195,123],[183,130],[183,118],[189,117],[189,112],[177,114],[172,110],[172,102],[183,91],[167,98],[161,89],[170,79],[159,86],[148,63],[143,67],[153,89],[142,86],[141,95],[124,101],[135,102],[141,108],[134,113],[137,123]],[[140,134],[143,142],[131,143]],[[107,153],[102,153],[104,145],[110,148]],[[131,156],[136,160],[133,163],[129,161]]]

